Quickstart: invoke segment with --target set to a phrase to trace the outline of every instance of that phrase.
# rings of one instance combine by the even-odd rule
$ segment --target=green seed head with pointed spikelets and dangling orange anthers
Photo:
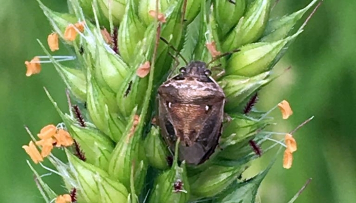
[[[70,112],[61,111],[46,93],[63,121],[60,129],[69,132],[74,144],[66,146],[68,163],[63,163],[51,151],[42,157],[39,149],[42,152],[44,147],[33,148],[42,138],[30,133],[32,148],[24,146],[26,152],[31,149],[31,158],[37,156],[35,163],[48,157],[68,192],[77,190],[78,203],[255,202],[257,188],[270,166],[251,179],[241,179],[241,175],[262,155],[262,149],[268,151],[277,145],[270,143],[277,133],[265,127],[274,124],[269,113],[278,106],[257,111],[257,93],[277,77],[274,65],[305,23],[297,31],[293,27],[316,1],[275,19],[270,19],[271,0],[68,0],[69,14],[52,11],[39,1],[58,34],[54,36],[72,49],[71,55],[55,55],[40,43],[47,56],[25,64],[39,68],[38,63],[51,62],[62,77],[69,92]],[[75,61],[66,64],[58,60],[63,57]],[[161,137],[162,129],[151,124],[152,118],[162,116],[162,110],[157,111],[158,87],[190,61],[205,62],[208,81],[216,82],[225,95],[218,109],[223,118],[218,116],[221,122],[215,126],[215,120],[203,119],[215,104],[201,101],[207,112],[201,113],[200,122],[210,122],[208,126],[221,131],[212,133],[216,139],[205,139],[208,129],[200,129],[204,133],[197,139],[189,137],[202,147],[207,146],[204,142],[218,140],[210,143],[214,148],[203,149],[208,152],[200,165],[178,162],[179,142],[173,139],[176,153],[171,154],[163,141],[167,139]],[[180,88],[196,91],[197,87],[187,84]],[[176,100],[166,100],[167,121],[159,126],[166,128],[167,137],[179,140],[179,129],[173,125],[181,123],[180,117],[175,117],[176,109],[171,108]],[[196,106],[192,107],[198,109]],[[282,142],[276,143],[290,152]],[[57,147],[52,140],[49,143],[47,149]],[[171,156],[173,163],[168,163]],[[292,152],[288,156],[286,163],[293,158]],[[55,201],[58,194],[30,167],[45,201]]]

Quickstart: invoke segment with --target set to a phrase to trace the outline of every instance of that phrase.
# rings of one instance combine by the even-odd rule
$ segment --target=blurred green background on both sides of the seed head
[[[291,13],[309,1],[281,0],[272,13]],[[66,11],[65,0],[43,2]],[[356,202],[355,8],[354,0],[325,0],[277,64],[277,70],[289,65],[292,69],[260,94],[260,110],[282,99],[294,110],[288,121],[278,120],[275,130],[289,131],[315,115],[295,133],[298,151],[293,167],[283,169],[282,154],[278,156],[260,188],[262,203],[287,203],[308,178],[313,181],[297,203]],[[25,161],[29,157],[21,148],[30,140],[23,127],[37,133],[47,124],[59,123],[42,87],[63,110],[67,108],[65,87],[51,65],[43,65],[41,74],[26,77],[24,61],[42,55],[36,38],[45,42],[51,28],[35,0],[0,0],[0,30],[0,203],[42,203]],[[66,53],[62,49],[57,54]],[[279,112],[275,114],[280,117]],[[264,168],[272,156],[267,153],[248,174]],[[63,192],[56,175],[45,180]]]

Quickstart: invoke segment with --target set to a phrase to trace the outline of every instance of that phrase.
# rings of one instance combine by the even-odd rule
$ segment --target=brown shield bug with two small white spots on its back
[[[198,165],[218,145],[225,94],[201,61],[190,62],[158,88],[158,125],[174,153],[180,138],[179,160]]]

